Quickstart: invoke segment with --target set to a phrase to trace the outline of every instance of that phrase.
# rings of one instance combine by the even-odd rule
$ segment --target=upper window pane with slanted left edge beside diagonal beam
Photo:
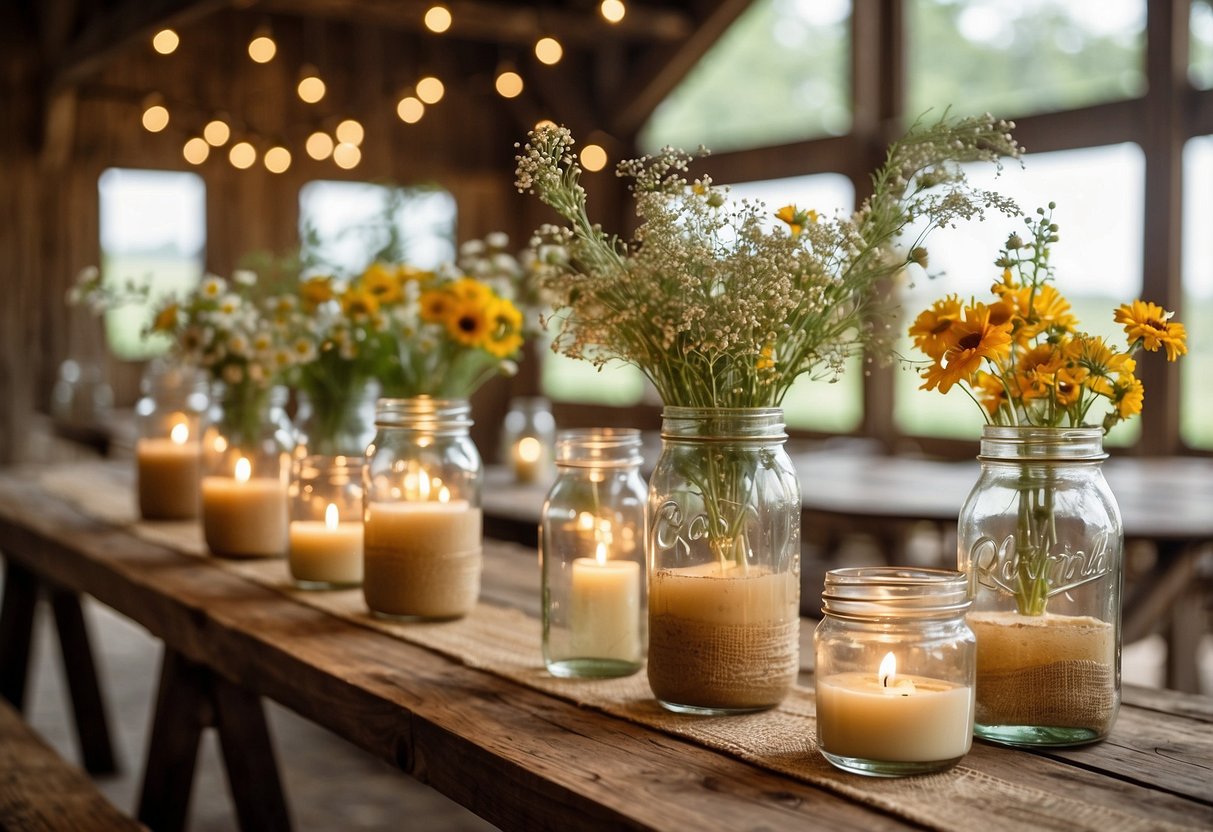
[[[850,129],[849,0],[756,0],[640,132],[645,150],[784,144]]]

